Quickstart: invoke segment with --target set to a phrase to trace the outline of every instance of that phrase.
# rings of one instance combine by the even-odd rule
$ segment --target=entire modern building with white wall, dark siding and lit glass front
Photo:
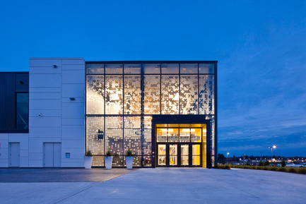
[[[214,167],[217,61],[31,58],[0,73],[0,167]]]

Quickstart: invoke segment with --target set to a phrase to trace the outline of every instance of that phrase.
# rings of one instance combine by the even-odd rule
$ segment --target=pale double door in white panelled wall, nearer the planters
[[[44,167],[61,167],[61,143],[44,143]]]

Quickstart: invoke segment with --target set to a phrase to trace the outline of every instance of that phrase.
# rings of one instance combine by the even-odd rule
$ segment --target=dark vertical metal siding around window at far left
[[[16,92],[29,92],[28,84],[29,73],[0,72],[0,133],[28,132],[15,128]]]

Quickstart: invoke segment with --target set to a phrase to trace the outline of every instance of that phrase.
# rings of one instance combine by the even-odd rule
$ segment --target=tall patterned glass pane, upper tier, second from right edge
[[[180,76],[180,112],[181,114],[198,113],[198,76]]]

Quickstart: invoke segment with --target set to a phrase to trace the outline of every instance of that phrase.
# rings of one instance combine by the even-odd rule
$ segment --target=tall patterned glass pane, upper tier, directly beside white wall
[[[86,112],[104,114],[104,76],[86,76]]]

